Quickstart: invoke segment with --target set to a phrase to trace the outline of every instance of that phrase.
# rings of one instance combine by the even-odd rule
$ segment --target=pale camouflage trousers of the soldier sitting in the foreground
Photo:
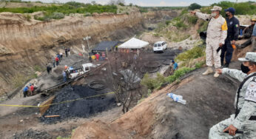
[[[240,131],[243,131],[243,134],[235,134],[235,136],[229,135],[229,133],[223,132],[226,127],[228,127],[230,124],[233,123],[235,119],[235,115],[231,115],[230,118],[221,121],[220,123],[217,123],[215,126],[212,126],[212,128],[209,131],[209,139],[255,139],[256,138],[256,121],[245,121],[243,123],[243,129],[238,129]]]

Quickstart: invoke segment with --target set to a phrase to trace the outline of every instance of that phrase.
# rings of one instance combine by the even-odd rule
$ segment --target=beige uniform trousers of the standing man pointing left
[[[220,51],[217,52],[220,39],[206,39],[206,65],[215,69],[220,68]]]

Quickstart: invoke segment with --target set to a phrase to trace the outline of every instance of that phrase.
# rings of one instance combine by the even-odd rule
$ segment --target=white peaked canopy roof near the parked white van
[[[138,38],[131,38],[124,44],[119,45],[118,48],[141,49],[142,47],[146,47],[147,45],[149,45],[149,43],[146,41],[141,41]]]

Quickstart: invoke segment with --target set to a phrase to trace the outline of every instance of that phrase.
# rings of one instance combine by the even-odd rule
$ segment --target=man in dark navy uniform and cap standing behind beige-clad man
[[[235,45],[235,41],[238,40],[239,35],[239,21],[238,18],[235,18],[235,9],[229,7],[225,10],[226,12],[226,24],[228,26],[228,35],[225,40],[225,44],[221,47],[221,54],[220,54],[220,61],[221,66],[229,67],[229,63],[232,59],[232,54],[234,48],[232,45]],[[224,58],[225,58],[225,65],[224,65]]]

